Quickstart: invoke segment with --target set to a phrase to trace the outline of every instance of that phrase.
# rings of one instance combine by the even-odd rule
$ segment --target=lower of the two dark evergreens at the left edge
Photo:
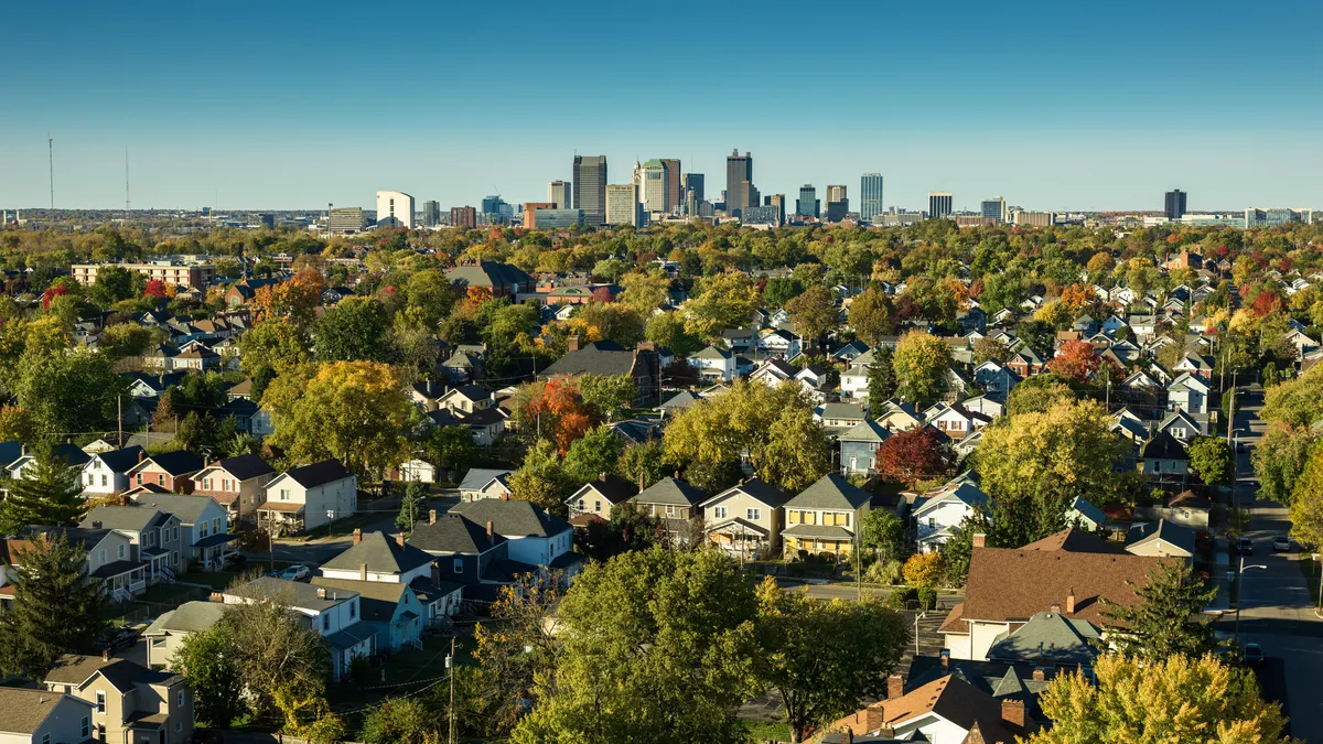
[[[0,613],[0,670],[44,679],[62,654],[85,651],[105,629],[101,585],[87,553],[65,535],[38,535],[16,551],[13,601]]]

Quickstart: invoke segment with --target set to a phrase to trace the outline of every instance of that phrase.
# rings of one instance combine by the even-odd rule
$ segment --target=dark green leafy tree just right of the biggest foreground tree
[[[876,600],[820,601],[786,592],[770,576],[758,588],[758,676],[781,694],[790,740],[886,694],[909,642],[896,610]]]

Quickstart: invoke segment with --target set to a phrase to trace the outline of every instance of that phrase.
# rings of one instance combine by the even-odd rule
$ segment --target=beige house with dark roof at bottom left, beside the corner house
[[[87,739],[147,744],[193,740],[193,691],[183,675],[108,655],[66,655],[42,683],[48,692],[93,704],[94,731]]]

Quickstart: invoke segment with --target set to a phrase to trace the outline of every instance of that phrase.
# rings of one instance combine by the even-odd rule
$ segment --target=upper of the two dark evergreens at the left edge
[[[78,475],[50,449],[37,450],[22,478],[9,483],[9,495],[0,502],[0,532],[16,535],[32,524],[75,527],[87,511]]]

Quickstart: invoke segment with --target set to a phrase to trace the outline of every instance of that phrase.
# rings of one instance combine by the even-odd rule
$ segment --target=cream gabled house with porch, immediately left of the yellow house
[[[782,510],[790,496],[751,478],[703,502],[708,539],[741,556],[781,555]]]

